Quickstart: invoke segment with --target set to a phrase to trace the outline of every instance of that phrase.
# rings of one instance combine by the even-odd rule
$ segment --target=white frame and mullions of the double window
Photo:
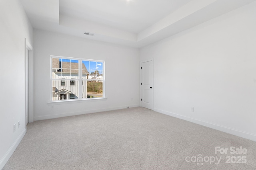
[[[78,82],[78,99],[67,99],[66,100],[52,100],[53,99],[53,93],[52,93],[52,81],[53,80],[63,80],[63,78],[52,78],[52,58],[58,58],[58,59],[70,59],[70,60],[78,60],[78,79],[65,79],[65,81],[70,81],[70,80],[75,80]],[[82,94],[82,81],[90,81],[93,79],[82,79],[82,61],[92,61],[92,62],[99,62],[103,64],[103,70],[102,70],[102,74],[103,74],[103,78],[101,79],[101,81],[103,81],[102,84],[102,97],[98,97],[98,98],[83,98],[83,94]],[[87,68],[89,69],[89,68]],[[88,70],[89,72],[90,70]],[[71,101],[86,101],[86,100],[95,100],[97,101],[98,99],[106,99],[105,97],[105,61],[102,60],[92,60],[92,59],[83,59],[83,58],[74,58],[74,57],[62,57],[62,56],[50,56],[50,88],[51,88],[51,93],[50,93],[50,102],[71,102]],[[65,82],[66,85],[67,82]]]

